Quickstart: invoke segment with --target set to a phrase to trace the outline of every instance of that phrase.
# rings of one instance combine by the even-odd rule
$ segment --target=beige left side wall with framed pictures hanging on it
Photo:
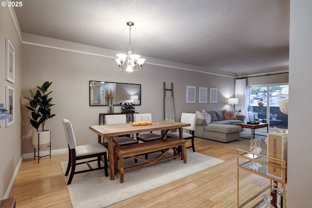
[[[9,38],[15,49],[15,83],[5,80],[5,39]],[[20,161],[20,92],[21,92],[21,42],[8,7],[0,7],[0,103],[5,104],[5,86],[15,90],[15,122],[5,127],[0,120],[0,197],[5,197],[12,175]]]

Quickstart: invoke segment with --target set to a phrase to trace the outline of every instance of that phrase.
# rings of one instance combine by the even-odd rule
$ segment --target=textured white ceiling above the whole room
[[[25,0],[23,33],[247,75],[289,65],[290,0]],[[148,61],[148,60],[147,60]]]

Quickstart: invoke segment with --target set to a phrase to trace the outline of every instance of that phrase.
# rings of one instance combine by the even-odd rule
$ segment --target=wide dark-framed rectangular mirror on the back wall
[[[89,81],[90,106],[108,105],[105,100],[105,91],[112,90],[116,92],[114,105],[121,105],[122,103],[134,103],[141,105],[141,85],[118,83],[118,82],[104,82],[104,81]]]

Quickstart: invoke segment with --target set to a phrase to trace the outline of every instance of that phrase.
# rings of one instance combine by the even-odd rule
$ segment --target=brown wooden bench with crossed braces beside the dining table
[[[161,139],[156,141],[150,141],[145,143],[138,143],[133,145],[126,145],[121,147],[114,147],[114,156],[115,156],[115,174],[118,173],[120,177],[120,183],[123,183],[123,174],[125,170],[130,170],[134,168],[140,168],[147,165],[152,165],[154,163],[165,161],[169,159],[174,159],[177,157],[181,157],[184,163],[187,163],[186,160],[186,140],[180,138],[168,138]],[[177,148],[181,146],[181,153],[177,152]],[[164,157],[171,149],[174,150],[174,155]],[[146,153],[158,152],[161,151],[160,155],[154,159],[149,160],[143,157],[139,157],[139,155],[144,155]],[[119,169],[117,168],[117,157],[119,157]],[[123,167],[123,159],[126,157],[132,157],[141,161],[144,161],[142,164],[134,165],[131,167],[124,168]]]

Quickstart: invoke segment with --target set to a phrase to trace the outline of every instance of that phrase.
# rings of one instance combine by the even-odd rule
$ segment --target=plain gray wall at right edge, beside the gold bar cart
[[[312,1],[291,0],[289,52],[288,207],[312,207]],[[300,112],[300,113],[299,113]]]

